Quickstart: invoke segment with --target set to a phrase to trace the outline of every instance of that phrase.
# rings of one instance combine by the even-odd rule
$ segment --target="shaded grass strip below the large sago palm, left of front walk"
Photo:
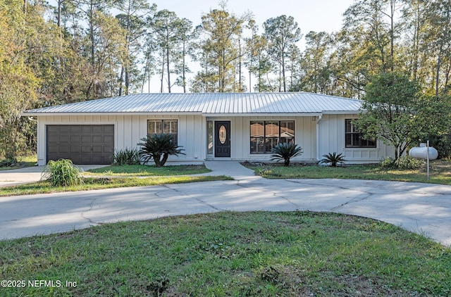
[[[111,165],[104,168],[88,170],[84,175],[110,176],[168,176],[168,175],[197,175],[210,172],[205,165],[169,165],[156,168],[154,165]]]

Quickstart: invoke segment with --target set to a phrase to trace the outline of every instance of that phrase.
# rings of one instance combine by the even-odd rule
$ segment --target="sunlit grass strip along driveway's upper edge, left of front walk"
[[[121,187],[145,187],[159,184],[182,184],[187,182],[211,182],[215,180],[230,180],[226,176],[178,176],[178,177],[86,177],[84,183],[69,187],[53,187],[50,182],[35,182],[13,187],[0,188],[0,196],[46,194],[63,191],[87,191],[96,189],[111,189]]]

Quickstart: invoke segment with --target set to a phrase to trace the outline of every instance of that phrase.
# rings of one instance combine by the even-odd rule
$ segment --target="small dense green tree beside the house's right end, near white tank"
[[[388,72],[377,75],[366,86],[357,127],[366,138],[380,138],[395,148],[395,160],[402,156],[424,129],[427,116],[419,112],[419,84],[405,75]]]

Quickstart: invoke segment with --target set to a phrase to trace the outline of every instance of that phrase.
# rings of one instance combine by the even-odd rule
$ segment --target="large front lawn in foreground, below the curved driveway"
[[[451,250],[331,213],[215,213],[0,241],[2,296],[450,296]],[[32,287],[30,280],[61,287]],[[76,287],[66,287],[66,282]]]

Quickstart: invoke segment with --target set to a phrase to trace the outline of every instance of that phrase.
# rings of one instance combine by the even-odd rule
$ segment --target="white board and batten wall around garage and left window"
[[[46,125],[114,125],[114,148],[135,148],[147,135],[147,120],[178,120],[178,140],[185,155],[169,161],[203,161],[206,154],[205,120],[201,115],[49,115],[38,117],[38,165],[46,163]]]

